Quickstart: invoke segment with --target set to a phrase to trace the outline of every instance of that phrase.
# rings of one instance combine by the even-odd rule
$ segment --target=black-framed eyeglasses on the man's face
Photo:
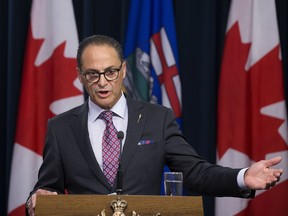
[[[123,65],[123,62],[121,62],[121,65],[119,68],[107,68],[103,72],[100,72],[97,70],[86,70],[82,72],[81,69],[80,71],[81,71],[81,74],[85,76],[87,82],[90,82],[90,83],[98,82],[101,75],[103,75],[107,81],[113,81],[118,78],[122,65]]]

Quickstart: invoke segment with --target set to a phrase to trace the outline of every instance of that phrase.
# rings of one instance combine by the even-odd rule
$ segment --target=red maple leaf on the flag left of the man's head
[[[16,142],[42,155],[47,120],[53,116],[50,104],[58,99],[82,94],[73,86],[76,59],[64,57],[65,42],[52,56],[36,67],[34,62],[44,40],[32,37],[31,27],[22,75]]]

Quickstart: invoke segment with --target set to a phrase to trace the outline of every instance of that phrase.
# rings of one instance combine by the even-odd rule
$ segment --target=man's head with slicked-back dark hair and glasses
[[[84,39],[78,48],[77,71],[91,100],[101,108],[110,109],[121,97],[126,62],[115,39],[103,35]]]

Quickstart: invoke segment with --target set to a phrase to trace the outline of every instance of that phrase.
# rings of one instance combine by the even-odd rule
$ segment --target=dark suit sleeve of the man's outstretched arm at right
[[[245,197],[237,184],[240,169],[210,164],[201,158],[183,137],[171,110],[167,111],[163,130],[166,163],[172,171],[183,172],[183,184],[188,191],[207,196]]]

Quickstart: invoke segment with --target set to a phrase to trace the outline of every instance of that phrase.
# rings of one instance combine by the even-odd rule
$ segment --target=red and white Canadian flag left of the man
[[[71,0],[34,0],[24,59],[10,176],[8,214],[25,215],[42,163],[46,124],[83,103],[77,79],[78,35]]]

